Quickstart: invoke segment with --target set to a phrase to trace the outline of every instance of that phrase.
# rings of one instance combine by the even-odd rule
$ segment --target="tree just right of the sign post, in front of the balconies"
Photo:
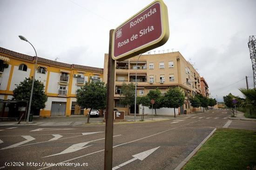
[[[130,105],[135,104],[135,85],[133,83],[125,84],[121,86],[120,102],[124,105],[128,105],[130,111]]]

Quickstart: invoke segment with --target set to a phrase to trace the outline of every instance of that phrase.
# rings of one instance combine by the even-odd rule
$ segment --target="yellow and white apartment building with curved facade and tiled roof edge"
[[[34,63],[35,57],[0,47],[0,99],[12,99],[13,89],[25,78],[32,78]],[[76,105],[76,90],[89,80],[102,81],[102,78],[102,68],[66,64],[38,57],[35,79],[44,84],[48,100],[46,107],[34,114],[87,114],[88,111]]]

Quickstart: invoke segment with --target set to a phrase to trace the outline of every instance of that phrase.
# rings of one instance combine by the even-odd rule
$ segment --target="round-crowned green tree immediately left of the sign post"
[[[103,82],[90,81],[76,91],[76,102],[82,108],[90,108],[87,123],[90,121],[92,109],[105,109],[107,102],[107,88]]]

